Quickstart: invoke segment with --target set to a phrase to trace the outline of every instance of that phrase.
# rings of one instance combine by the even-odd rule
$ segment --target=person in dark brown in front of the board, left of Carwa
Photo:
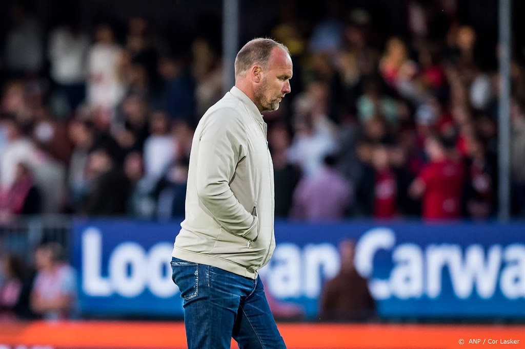
[[[364,321],[374,316],[375,303],[368,283],[354,267],[355,244],[339,244],[341,266],[338,274],[327,281],[321,292],[319,318],[322,321]]]

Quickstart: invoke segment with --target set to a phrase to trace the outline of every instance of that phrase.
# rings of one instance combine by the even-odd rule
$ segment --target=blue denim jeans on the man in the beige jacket
[[[245,278],[172,257],[181,291],[188,349],[286,348],[259,277]]]

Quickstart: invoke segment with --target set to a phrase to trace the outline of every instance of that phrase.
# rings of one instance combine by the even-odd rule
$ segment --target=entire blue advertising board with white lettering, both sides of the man
[[[85,313],[182,316],[171,281],[180,222],[77,220],[72,263]],[[381,318],[525,319],[525,223],[277,222],[277,246],[260,271],[269,297],[309,319],[340,268],[338,243],[356,242]],[[349,288],[352,287],[349,285]]]

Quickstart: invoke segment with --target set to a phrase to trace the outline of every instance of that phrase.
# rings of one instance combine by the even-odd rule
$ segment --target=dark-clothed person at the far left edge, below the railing
[[[30,317],[30,282],[22,260],[6,253],[0,260],[0,267],[5,277],[0,285],[0,321]]]

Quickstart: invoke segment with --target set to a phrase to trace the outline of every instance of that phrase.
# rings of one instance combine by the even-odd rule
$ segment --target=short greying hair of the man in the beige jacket
[[[281,48],[290,54],[285,45],[273,39],[256,38],[248,41],[235,57],[235,78],[245,74],[254,64],[260,64],[262,68],[268,67],[271,50],[274,47]]]

